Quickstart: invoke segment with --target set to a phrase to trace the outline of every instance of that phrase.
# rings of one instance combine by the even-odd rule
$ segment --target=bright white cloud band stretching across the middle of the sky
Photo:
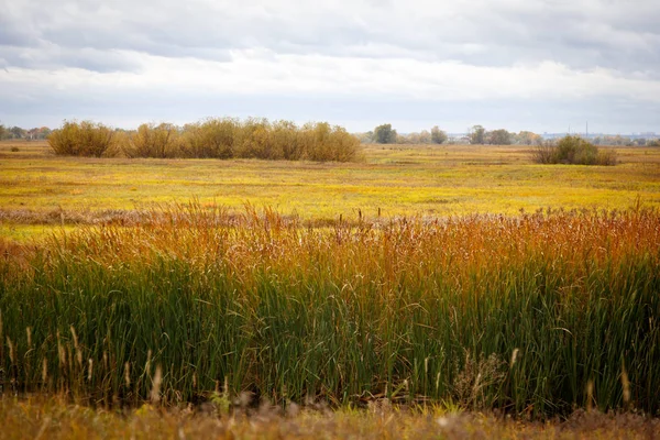
[[[394,96],[415,100],[552,99],[619,96],[660,102],[660,81],[630,78],[606,68],[573,70],[556,62],[474,66],[460,62],[334,57],[232,51],[231,63],[121,53],[138,72],[98,73],[79,67],[0,72],[3,94],[22,88],[72,92],[97,88],[139,94],[321,94]]]

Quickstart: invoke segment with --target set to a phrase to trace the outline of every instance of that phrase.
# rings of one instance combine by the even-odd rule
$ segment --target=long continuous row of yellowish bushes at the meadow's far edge
[[[266,119],[207,119],[176,127],[145,123],[136,131],[113,130],[90,121],[54,130],[48,144],[58,155],[156,158],[262,158],[352,162],[360,140],[327,122],[301,127]]]

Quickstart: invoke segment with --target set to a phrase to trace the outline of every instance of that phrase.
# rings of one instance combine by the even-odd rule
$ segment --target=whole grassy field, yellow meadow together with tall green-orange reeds
[[[660,150],[618,158],[370,145],[354,164],[81,160],[0,144],[3,393],[150,403],[158,429],[187,426],[165,408],[188,404],[227,422],[238,399],[340,408],[274,416],[300,432],[351,417],[386,432],[392,416],[393,438],[421,436],[459,411],[452,426],[482,437],[560,438],[495,415],[584,409],[636,421],[617,433],[622,418],[588,413],[566,436],[644,437],[656,420],[641,414],[660,411]],[[53,410],[4,399],[10,420]],[[103,424],[76,411],[61,417]]]

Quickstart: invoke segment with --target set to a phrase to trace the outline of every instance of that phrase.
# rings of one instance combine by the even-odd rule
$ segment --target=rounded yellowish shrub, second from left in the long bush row
[[[142,124],[123,145],[129,157],[167,158],[183,155],[178,130],[170,123]]]

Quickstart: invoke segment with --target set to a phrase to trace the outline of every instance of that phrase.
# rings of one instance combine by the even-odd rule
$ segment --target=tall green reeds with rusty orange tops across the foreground
[[[658,224],[636,209],[311,229],[169,207],[2,260],[2,386],[138,404],[161,369],[165,403],[227,381],[275,402],[656,414]]]

